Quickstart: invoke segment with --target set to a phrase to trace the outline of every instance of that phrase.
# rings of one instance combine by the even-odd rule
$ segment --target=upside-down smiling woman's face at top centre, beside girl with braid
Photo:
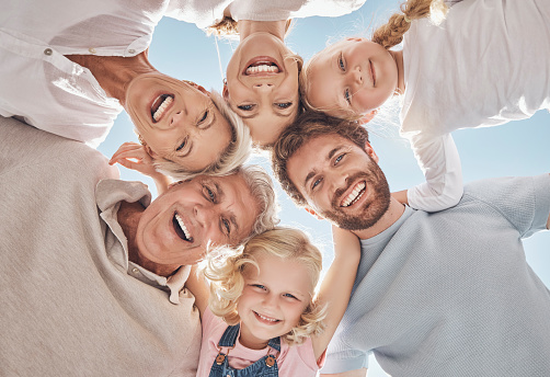
[[[273,144],[298,114],[298,64],[277,37],[254,33],[227,67],[224,95],[250,128],[255,144]]]

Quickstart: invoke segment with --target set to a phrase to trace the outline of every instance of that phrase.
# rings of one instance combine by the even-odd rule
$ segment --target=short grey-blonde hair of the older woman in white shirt
[[[231,127],[231,141],[226,149],[220,151],[217,161],[198,171],[188,171],[181,164],[162,157],[154,158],[153,164],[157,170],[172,176],[174,180],[186,180],[200,174],[227,175],[242,165],[252,152],[250,132],[241,117],[229,107],[218,92],[213,90],[209,96],[221,116],[227,119]]]

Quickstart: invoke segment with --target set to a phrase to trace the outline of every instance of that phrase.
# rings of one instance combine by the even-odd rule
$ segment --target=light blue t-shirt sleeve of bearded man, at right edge
[[[508,176],[473,182],[465,195],[481,199],[505,217],[522,238],[545,230],[550,214],[550,175]]]

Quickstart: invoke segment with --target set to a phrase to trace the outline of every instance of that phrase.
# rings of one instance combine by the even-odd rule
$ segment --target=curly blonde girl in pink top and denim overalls
[[[241,251],[209,256],[202,270],[210,285],[208,308],[204,281],[190,277],[203,321],[197,376],[317,375],[360,258],[354,235],[333,231],[337,248],[317,297],[321,252],[290,228],[255,236]]]

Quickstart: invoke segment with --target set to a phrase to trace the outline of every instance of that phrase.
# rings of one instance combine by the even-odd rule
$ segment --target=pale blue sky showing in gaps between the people
[[[399,2],[367,0],[358,11],[342,18],[309,18],[297,20],[286,38],[287,45],[309,59],[326,42],[345,36],[367,36],[370,26],[382,23],[397,10]],[[218,41],[219,58],[214,37],[208,37],[193,24],[163,19],[158,25],[149,58],[160,71],[177,79],[193,80],[206,89],[221,91],[222,73],[237,42]],[[536,75],[536,72],[534,72]],[[404,190],[423,181],[411,149],[398,135],[396,123],[371,125],[371,145],[380,157],[392,191]],[[538,112],[527,121],[513,122],[491,128],[466,129],[454,133],[462,160],[465,182],[492,176],[535,175],[550,172],[550,114]],[[124,141],[137,141],[128,116],[118,116],[107,139],[100,146],[111,157]],[[254,157],[268,171],[264,157]],[[123,180],[140,180],[156,196],[154,184],[148,178],[119,167]],[[325,266],[332,259],[330,227],[297,209],[277,185],[282,207],[282,224],[306,230],[325,255]],[[525,241],[527,261],[547,286],[550,286],[550,232],[537,233]],[[385,376],[374,359],[370,377]]]

